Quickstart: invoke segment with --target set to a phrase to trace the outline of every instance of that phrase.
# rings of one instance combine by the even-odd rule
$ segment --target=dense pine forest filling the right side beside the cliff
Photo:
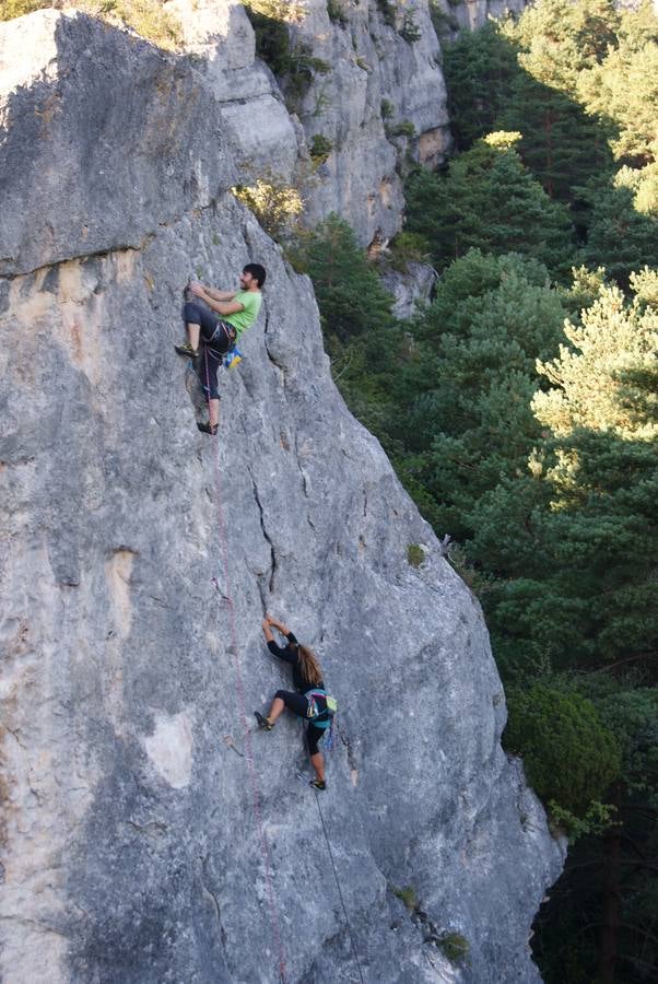
[[[376,262],[297,247],[333,374],[479,596],[566,870],[550,984],[658,975],[658,17],[539,0],[444,45],[455,152]],[[430,262],[391,315],[378,267]]]

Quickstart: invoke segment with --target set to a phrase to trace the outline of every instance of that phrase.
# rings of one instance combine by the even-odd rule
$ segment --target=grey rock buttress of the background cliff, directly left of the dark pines
[[[331,67],[298,106],[307,141],[318,134],[332,144],[308,195],[309,220],[336,211],[364,244],[386,243],[400,229],[407,157],[434,165],[450,143],[427,2],[388,4],[388,17],[383,7],[342,2],[340,21],[329,17],[327,0],[309,0],[295,27]]]

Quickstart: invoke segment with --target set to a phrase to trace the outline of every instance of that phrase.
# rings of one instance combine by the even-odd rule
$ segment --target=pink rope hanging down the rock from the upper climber
[[[205,358],[205,397],[208,401],[208,420],[210,421],[210,372],[208,368],[208,347],[203,347],[203,354]],[[256,823],[258,827],[258,835],[260,839],[260,850],[262,853],[263,864],[265,864],[265,877],[266,877],[266,887],[268,893],[268,903],[270,909],[270,922],[272,924],[272,930],[274,934],[274,940],[277,944],[277,949],[279,951],[279,974],[281,984],[285,984],[285,954],[283,950],[283,941],[281,939],[281,929],[279,926],[279,913],[277,910],[277,903],[274,899],[274,888],[272,883],[272,866],[270,862],[270,847],[268,844],[268,839],[265,832],[265,825],[262,822],[262,811],[260,808],[260,789],[258,787],[258,777],[256,773],[256,764],[254,762],[254,751],[251,747],[251,729],[249,728],[249,724],[247,721],[246,713],[246,704],[245,704],[245,689],[243,687],[243,675],[239,659],[239,649],[237,642],[237,628],[235,622],[235,607],[233,605],[233,595],[231,591],[231,578],[228,576],[228,549],[226,543],[226,524],[224,523],[224,507],[223,507],[223,496],[222,496],[222,472],[220,469],[220,444],[219,440],[216,442],[216,449],[214,455],[215,461],[215,483],[218,490],[218,518],[219,518],[219,528],[220,528],[220,542],[222,546],[222,564],[224,569],[224,585],[225,585],[225,597],[228,605],[228,620],[231,626],[231,644],[233,651],[233,664],[235,667],[235,679],[236,679],[236,689],[237,689],[237,699],[238,699],[238,714],[243,725],[244,733],[244,748],[245,748],[245,758],[247,760],[247,766],[249,771],[249,781],[251,785],[251,799],[254,813],[256,816]],[[216,577],[212,578],[212,583],[215,589],[220,590],[220,586]]]

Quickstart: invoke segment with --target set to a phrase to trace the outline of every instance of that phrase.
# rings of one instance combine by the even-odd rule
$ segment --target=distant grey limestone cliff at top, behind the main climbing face
[[[446,24],[475,27],[525,0],[437,0]],[[283,4],[285,7],[285,4]],[[363,245],[386,244],[403,221],[410,162],[435,166],[450,149],[442,51],[430,0],[298,0],[287,31],[293,51],[315,59],[308,83],[283,90],[256,58],[238,0],[169,0],[188,50],[201,57],[233,133],[240,180],[271,176],[298,187],[313,225],[338,212]],[[449,34],[449,32],[448,32]],[[331,147],[312,157],[314,140]]]

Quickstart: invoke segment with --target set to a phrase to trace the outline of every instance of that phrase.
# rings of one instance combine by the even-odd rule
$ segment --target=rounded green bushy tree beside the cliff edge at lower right
[[[503,740],[524,757],[528,781],[544,803],[583,820],[621,772],[621,751],[594,704],[576,690],[536,683],[507,696]]]

